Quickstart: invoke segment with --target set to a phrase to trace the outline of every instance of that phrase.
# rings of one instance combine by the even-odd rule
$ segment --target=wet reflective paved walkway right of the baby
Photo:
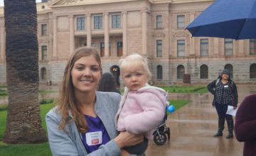
[[[249,94],[256,94],[256,85],[238,85],[239,103]],[[218,116],[208,94],[171,94],[170,99],[191,99],[193,102],[171,113],[166,122],[171,128],[171,140],[159,146],[149,142],[146,156],[241,156],[243,143],[236,138],[213,138],[218,129]]]

